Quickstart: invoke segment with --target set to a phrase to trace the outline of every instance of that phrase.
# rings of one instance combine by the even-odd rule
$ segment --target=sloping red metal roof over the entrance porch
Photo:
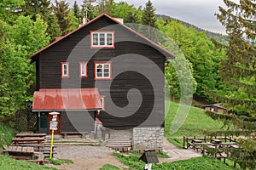
[[[97,88],[40,89],[32,111],[102,110]]]

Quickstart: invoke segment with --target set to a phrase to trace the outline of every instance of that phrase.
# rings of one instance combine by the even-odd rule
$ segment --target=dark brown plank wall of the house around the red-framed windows
[[[38,55],[37,59],[37,82],[39,88],[99,88],[100,94],[106,96],[106,111],[102,111],[100,120],[105,127],[118,129],[137,127],[141,125],[148,116],[152,116],[144,126],[156,127],[163,126],[164,122],[164,77],[154,77],[154,66],[157,65],[160,71],[164,71],[165,57],[159,51],[150,47],[141,37],[122,26],[112,26],[113,20],[102,17],[89,26],[74,32],[71,36],[55,43]],[[107,26],[107,27],[106,27]],[[104,28],[105,27],[105,28]],[[104,31],[115,31],[115,48],[90,48],[90,31],[101,29]],[[147,70],[148,77],[133,71],[125,71],[112,80],[95,81],[94,62],[108,61],[115,57],[126,54],[127,61],[137,69]],[[147,62],[132,60],[133,54],[139,54],[155,63],[154,66],[147,65]],[[129,57],[131,55],[131,57]],[[124,63],[125,63],[124,60]],[[79,62],[88,62],[88,77],[79,77]],[[61,62],[69,62],[70,77],[61,78]],[[131,65],[114,65],[113,70],[122,71],[129,69]],[[139,68],[140,67],[140,68]],[[153,87],[150,80],[156,80],[158,83]],[[110,87],[110,88],[109,88]],[[108,104],[113,102],[119,107],[125,107],[129,104],[127,93],[131,88],[137,88],[142,96],[143,103],[132,116],[126,116],[127,113],[121,112],[121,117],[108,113]],[[157,95],[155,95],[157,94]],[[157,96],[157,98],[156,98]],[[131,99],[137,99],[137,93],[131,94]],[[139,102],[139,101],[138,101]],[[154,108],[154,111],[152,111]],[[63,128],[63,127],[62,127]]]

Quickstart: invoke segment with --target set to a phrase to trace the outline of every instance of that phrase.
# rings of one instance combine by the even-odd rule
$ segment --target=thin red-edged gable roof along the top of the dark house
[[[54,45],[55,43],[57,43],[57,42],[60,42],[62,39],[64,39],[64,38],[70,36],[70,35],[73,34],[74,32],[79,31],[79,30],[82,29],[84,26],[90,25],[92,22],[94,22],[95,20],[98,20],[98,19],[101,18],[102,16],[108,17],[110,20],[115,21],[115,22],[116,22],[117,24],[119,24],[120,26],[123,26],[123,27],[125,27],[127,30],[130,30],[130,31],[134,32],[134,33],[137,34],[139,37],[142,37],[143,39],[145,39],[146,41],[148,41],[154,48],[158,49],[162,54],[168,55],[168,56],[171,57],[171,58],[175,58],[175,57],[176,57],[175,54],[172,54],[170,51],[166,50],[165,48],[162,48],[160,45],[158,45],[157,43],[151,41],[151,40],[148,39],[147,37],[144,37],[143,35],[141,35],[141,34],[138,33],[137,31],[134,31],[134,30],[132,30],[130,27],[125,26],[124,24],[120,23],[118,20],[115,20],[114,18],[112,18],[112,17],[109,16],[108,14],[102,13],[102,14],[98,15],[96,18],[94,18],[93,20],[90,20],[89,22],[87,22],[86,24],[84,24],[83,26],[80,26],[80,27],[78,27],[77,29],[75,29],[75,30],[73,30],[73,31],[71,31],[71,32],[69,32],[69,33],[67,33],[65,36],[57,37],[57,38],[55,39],[55,42],[51,42],[48,46],[46,46],[46,47],[40,49],[39,51],[37,51],[36,53],[32,54],[32,55],[30,56],[30,58],[32,59],[33,57],[35,57],[35,56],[37,56],[38,54],[42,53],[45,49],[47,49],[47,48],[53,46],[53,45]],[[32,61],[33,61],[33,60],[32,60]]]

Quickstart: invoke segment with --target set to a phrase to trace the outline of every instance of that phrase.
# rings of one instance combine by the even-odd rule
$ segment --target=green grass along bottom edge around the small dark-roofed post
[[[130,169],[143,169],[145,163],[139,160],[138,156],[124,156],[122,154],[114,153],[114,156],[117,156],[119,161],[121,161],[126,166],[130,167]],[[218,161],[217,159],[211,159],[207,156],[201,156],[192,158],[184,161],[175,161],[175,162],[164,162],[159,164],[154,164],[152,169],[159,170],[205,170],[205,169],[225,169],[232,170],[234,169],[232,166],[225,165],[222,161]]]

